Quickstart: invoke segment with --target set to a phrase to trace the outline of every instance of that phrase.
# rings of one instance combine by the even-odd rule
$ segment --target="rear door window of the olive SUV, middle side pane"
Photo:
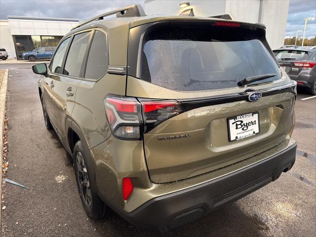
[[[64,75],[79,77],[80,70],[83,64],[84,54],[88,45],[90,32],[78,34],[70,46],[69,53],[66,59]]]

